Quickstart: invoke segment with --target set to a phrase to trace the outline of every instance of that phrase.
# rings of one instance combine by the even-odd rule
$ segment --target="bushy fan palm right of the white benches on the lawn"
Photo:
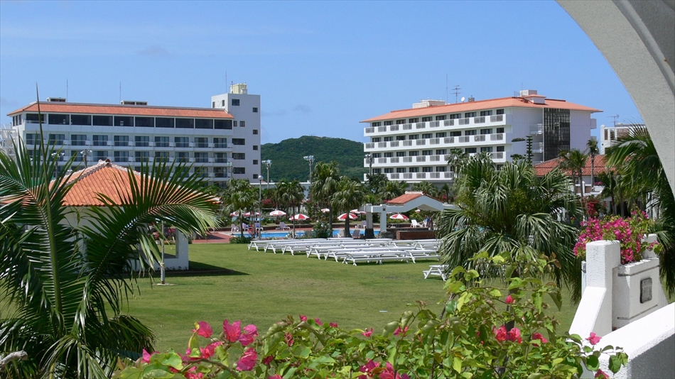
[[[497,170],[490,158],[477,155],[468,158],[460,174],[457,208],[443,211],[439,229],[448,267],[475,268],[470,258],[483,251],[489,256],[519,252],[531,260],[545,254],[561,263],[558,282],[564,278],[573,288],[581,285],[581,262],[572,251],[577,230],[560,221],[563,213],[577,213],[563,172],[539,178],[527,161]]]

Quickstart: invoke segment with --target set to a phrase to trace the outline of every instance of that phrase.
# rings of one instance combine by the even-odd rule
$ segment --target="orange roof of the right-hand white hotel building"
[[[533,95],[529,97],[542,97]],[[466,103],[446,104],[426,106],[424,108],[400,109],[391,111],[382,116],[366,119],[361,122],[372,122],[381,120],[407,119],[409,117],[430,116],[434,114],[451,114],[465,111],[479,111],[481,109],[507,108],[509,106],[520,106],[525,108],[558,108],[570,109],[571,111],[589,111],[591,113],[601,112],[600,109],[590,108],[579,104],[573,104],[565,100],[546,99],[546,104],[535,104],[528,101],[525,97],[502,97],[500,99],[488,99],[469,101]]]

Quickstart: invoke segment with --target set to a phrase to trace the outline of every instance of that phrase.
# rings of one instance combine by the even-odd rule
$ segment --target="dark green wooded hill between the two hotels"
[[[309,178],[309,163],[303,159],[314,155],[314,163],[335,160],[340,166],[340,175],[363,180],[367,168],[363,167],[363,143],[344,138],[302,136],[289,138],[279,143],[265,143],[261,147],[262,160],[271,160],[269,180],[300,180]],[[267,178],[267,169],[261,165],[260,172]]]

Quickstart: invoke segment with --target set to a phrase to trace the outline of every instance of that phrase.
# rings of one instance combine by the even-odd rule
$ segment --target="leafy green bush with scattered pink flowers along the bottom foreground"
[[[476,259],[502,268],[509,263],[508,254]],[[560,306],[554,283],[511,278],[499,289],[485,285],[476,270],[458,267],[446,288],[450,300],[440,315],[419,302],[382,334],[372,328],[347,331],[305,315],[288,316],[261,336],[253,325],[242,331],[239,322],[227,320],[213,336],[209,324],[198,322],[184,354],[144,351],[135,363],[120,363],[114,378],[536,379],[578,378],[583,367],[601,378],[606,374],[599,370],[600,354],[612,354],[614,373],[627,363],[620,349],[595,350],[595,334],[558,334],[558,322],[544,312],[544,295]]]

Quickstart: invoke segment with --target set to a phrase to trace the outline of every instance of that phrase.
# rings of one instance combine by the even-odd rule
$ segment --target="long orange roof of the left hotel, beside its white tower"
[[[21,112],[37,112],[38,104],[33,102],[21,109],[10,112],[13,116]],[[70,114],[123,114],[129,116],[167,116],[167,117],[203,117],[210,119],[234,119],[225,109],[212,108],[180,108],[175,106],[146,106],[123,104],[77,104],[60,102],[41,102],[42,113],[59,112]]]

